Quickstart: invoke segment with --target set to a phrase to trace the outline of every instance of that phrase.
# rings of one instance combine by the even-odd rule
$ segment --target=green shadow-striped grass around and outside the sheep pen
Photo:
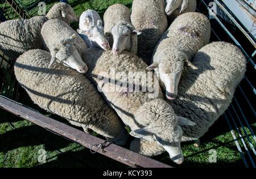
[[[26,5],[28,2],[31,1],[22,1],[23,5]],[[51,1],[51,3],[48,3],[47,9],[51,8],[56,2]],[[122,3],[130,8],[132,2],[132,0],[69,0],[77,15],[90,8],[97,10],[101,16],[104,14],[106,8],[114,3]],[[33,11],[30,11],[30,14],[33,13]],[[77,24],[72,24],[72,26],[76,27]],[[46,114],[56,120],[67,122],[38,108],[31,100],[28,100],[29,98],[26,92],[21,91],[19,95],[20,103],[31,106],[39,110],[40,113]],[[251,123],[255,130],[255,122]],[[245,134],[242,133],[242,135],[246,140]],[[241,142],[240,144],[242,145]],[[255,143],[253,144],[256,146]],[[40,163],[40,160],[38,160],[42,155],[39,152],[42,150],[46,151],[46,163]],[[210,127],[209,132],[201,139],[201,146],[199,148],[194,147],[193,143],[183,143],[182,150],[185,157],[183,165],[175,165],[168,159],[166,154],[157,156],[155,159],[174,167],[244,167],[224,117],[221,117]],[[210,150],[217,152],[217,163],[209,162]],[[125,166],[100,154],[90,154],[88,149],[77,143],[70,142],[26,120],[21,120],[16,116],[0,110],[0,167]]]

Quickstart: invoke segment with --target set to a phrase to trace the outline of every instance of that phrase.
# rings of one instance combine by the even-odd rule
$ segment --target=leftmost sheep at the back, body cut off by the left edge
[[[40,30],[48,19],[61,19],[71,23],[77,20],[77,16],[68,4],[56,3],[46,16],[2,22],[0,23],[0,50],[6,56],[16,59],[27,50],[46,49]]]

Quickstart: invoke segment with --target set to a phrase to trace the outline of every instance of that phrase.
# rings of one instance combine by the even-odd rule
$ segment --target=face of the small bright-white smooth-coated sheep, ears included
[[[81,35],[86,35],[90,41],[97,44],[100,48],[104,50],[110,49],[109,42],[104,36],[104,28],[102,27],[101,20],[98,20],[97,26],[90,28],[88,31],[77,29],[77,32]]]

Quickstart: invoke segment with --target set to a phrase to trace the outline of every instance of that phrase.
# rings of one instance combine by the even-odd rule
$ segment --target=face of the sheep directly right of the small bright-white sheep
[[[131,35],[141,35],[141,32],[135,31],[134,27],[129,27],[124,23],[119,23],[112,28],[114,39],[112,51],[119,55],[123,50],[131,49]]]

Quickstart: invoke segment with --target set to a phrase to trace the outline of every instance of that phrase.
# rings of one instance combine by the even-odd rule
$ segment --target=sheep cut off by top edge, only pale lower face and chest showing
[[[186,12],[196,11],[196,0],[166,0],[166,14],[170,22]]]

